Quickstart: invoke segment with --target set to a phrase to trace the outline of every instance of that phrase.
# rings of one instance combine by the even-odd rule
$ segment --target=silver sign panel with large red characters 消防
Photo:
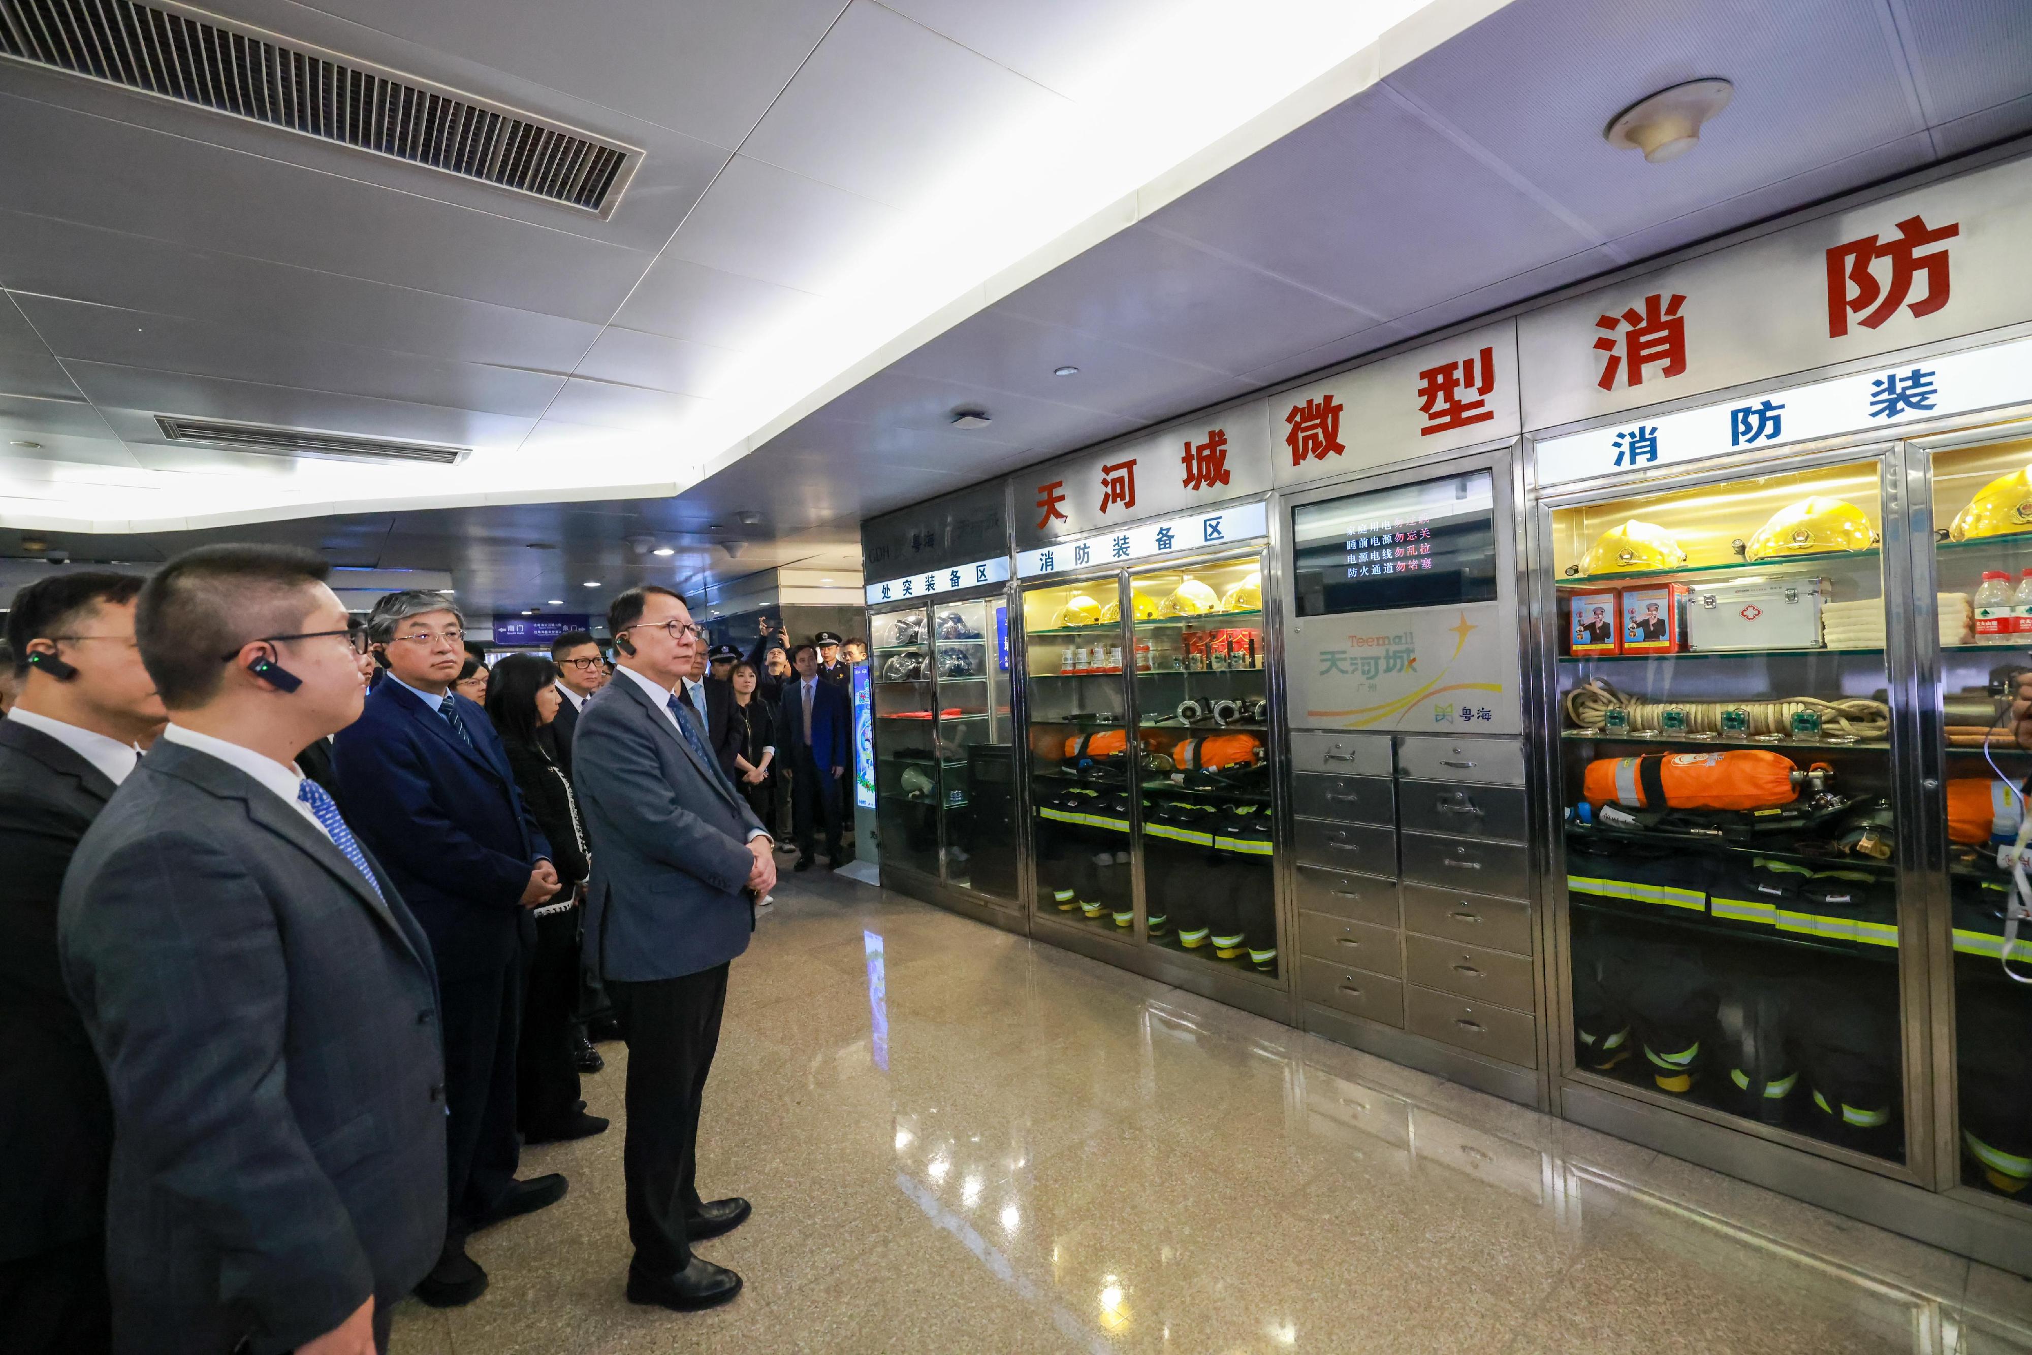
[[[2026,240],[2032,160],[2014,160],[1530,311],[1518,319],[1524,427],[2022,323]]]

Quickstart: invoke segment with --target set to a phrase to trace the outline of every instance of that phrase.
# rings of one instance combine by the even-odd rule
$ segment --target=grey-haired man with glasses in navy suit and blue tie
[[[467,1304],[488,1286],[465,1237],[553,1205],[563,1176],[516,1180],[516,1036],[528,910],[557,894],[551,845],[522,809],[486,711],[451,691],[465,624],[443,593],[390,593],[368,634],[388,676],[333,746],[339,806],[382,861],[437,957],[445,1012],[449,1225],[417,1296]],[[530,934],[524,934],[530,932]]]

